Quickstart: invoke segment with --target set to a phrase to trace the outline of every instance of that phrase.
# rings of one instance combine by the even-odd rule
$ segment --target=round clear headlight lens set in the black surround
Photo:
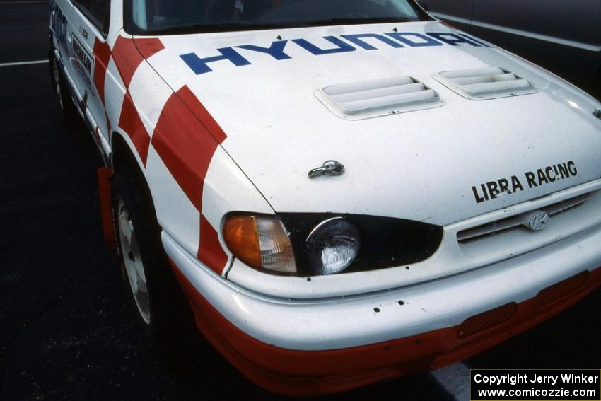
[[[361,234],[350,221],[335,217],[320,223],[307,238],[307,259],[317,274],[336,274],[354,262]]]

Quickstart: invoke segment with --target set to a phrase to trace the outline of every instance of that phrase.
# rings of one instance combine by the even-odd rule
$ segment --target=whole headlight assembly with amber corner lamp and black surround
[[[422,262],[440,246],[443,228],[358,214],[240,212],[226,217],[223,238],[250,267],[311,277]]]

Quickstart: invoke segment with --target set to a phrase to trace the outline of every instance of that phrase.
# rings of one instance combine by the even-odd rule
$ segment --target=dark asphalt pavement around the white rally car
[[[44,60],[47,2],[0,1],[0,65]],[[144,341],[100,228],[91,136],[62,124],[47,64],[0,66],[0,399],[279,400],[202,338]],[[324,400],[465,400],[469,368],[600,368],[601,291],[463,364]]]

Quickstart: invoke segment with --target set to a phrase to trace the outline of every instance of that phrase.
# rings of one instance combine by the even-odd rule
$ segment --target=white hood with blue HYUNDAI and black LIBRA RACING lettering
[[[459,33],[430,21],[168,35],[161,37],[165,50],[148,62],[174,91],[188,86],[197,96],[227,135],[223,149],[275,211],[445,225],[601,176],[601,121],[592,115],[599,103],[508,52],[440,35],[441,45],[393,47],[367,37],[352,52],[308,50],[307,43],[334,49],[343,35],[395,30]],[[251,48],[273,42],[280,45],[272,54]],[[486,66],[522,76],[537,93],[471,100],[435,78]],[[315,95],[328,86],[397,76],[424,82],[444,105],[349,120]],[[329,160],[342,163],[344,175],[308,178]],[[491,196],[505,181],[509,191]]]

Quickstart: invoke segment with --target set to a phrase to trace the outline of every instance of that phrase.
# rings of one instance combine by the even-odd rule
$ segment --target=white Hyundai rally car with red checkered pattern
[[[51,0],[50,31],[141,320],[185,294],[264,388],[444,366],[601,282],[601,104],[413,0]]]

